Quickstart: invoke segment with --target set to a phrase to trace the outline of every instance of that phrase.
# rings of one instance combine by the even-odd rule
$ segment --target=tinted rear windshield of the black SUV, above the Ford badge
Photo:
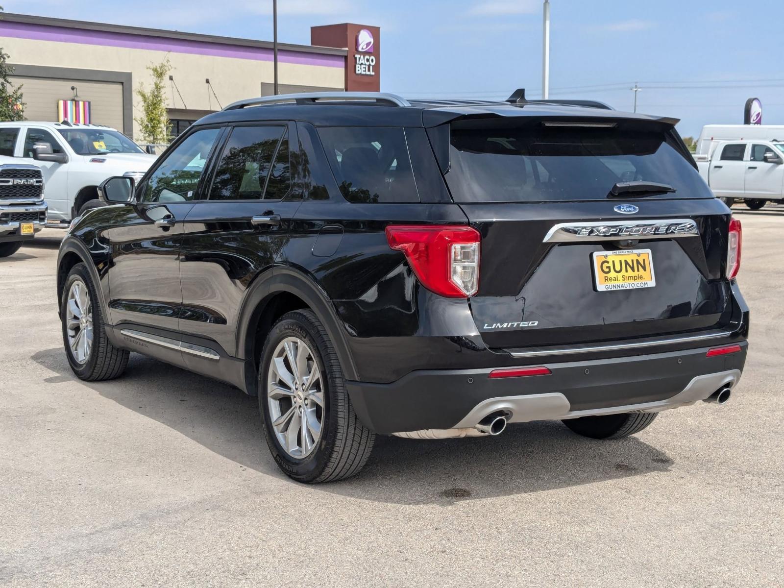
[[[617,182],[639,180],[676,189],[646,198],[713,197],[664,132],[452,125],[450,162],[458,202],[598,200]]]

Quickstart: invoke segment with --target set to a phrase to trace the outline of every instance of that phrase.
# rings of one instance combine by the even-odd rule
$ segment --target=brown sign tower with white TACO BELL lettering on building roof
[[[381,30],[368,24],[328,24],[310,27],[310,43],[343,49],[346,53],[345,89],[378,92],[380,89]]]

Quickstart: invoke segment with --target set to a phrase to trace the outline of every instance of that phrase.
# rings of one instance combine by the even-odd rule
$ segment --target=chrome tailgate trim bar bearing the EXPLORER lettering
[[[691,219],[607,220],[603,222],[558,223],[544,236],[543,243],[573,243],[604,239],[670,239],[699,235]]]

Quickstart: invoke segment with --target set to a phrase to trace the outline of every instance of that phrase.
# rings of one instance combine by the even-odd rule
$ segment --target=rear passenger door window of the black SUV
[[[285,126],[238,126],[223,149],[209,198],[281,200],[291,187],[290,167]]]

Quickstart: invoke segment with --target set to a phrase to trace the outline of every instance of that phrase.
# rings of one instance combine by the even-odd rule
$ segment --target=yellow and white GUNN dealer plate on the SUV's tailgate
[[[651,250],[593,252],[593,284],[598,292],[655,286]]]

